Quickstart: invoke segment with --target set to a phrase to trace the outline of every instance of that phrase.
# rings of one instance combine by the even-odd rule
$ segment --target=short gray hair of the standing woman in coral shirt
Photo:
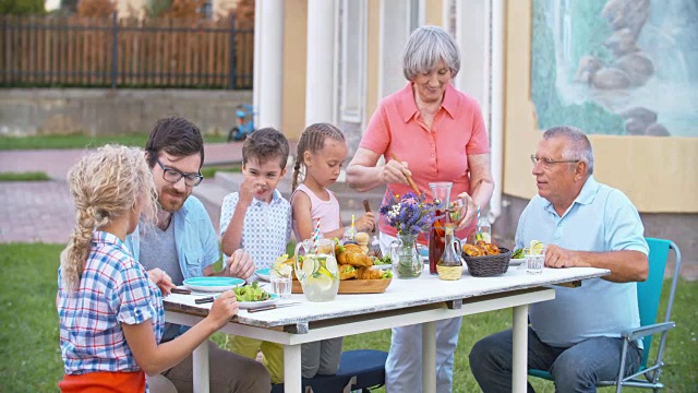
[[[440,26],[420,26],[407,41],[402,53],[402,73],[414,81],[420,73],[428,73],[443,60],[450,69],[450,76],[460,71],[460,52],[453,37]]]

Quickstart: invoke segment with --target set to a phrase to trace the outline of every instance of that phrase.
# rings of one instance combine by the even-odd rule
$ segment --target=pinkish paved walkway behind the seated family
[[[291,153],[296,144],[291,145]],[[0,172],[44,171],[51,181],[19,181],[0,183],[0,243],[47,242],[64,243],[75,222],[75,212],[65,182],[68,169],[87,150],[0,151]],[[242,143],[218,143],[205,146],[206,165],[242,162]],[[206,179],[205,187],[194,189],[194,194],[206,205],[216,231],[218,230],[220,202],[229,183],[217,184]],[[362,196],[363,198],[363,196]],[[352,206],[353,207],[353,206]],[[356,213],[361,214],[360,207]],[[342,214],[354,211],[342,209]],[[684,255],[682,275],[698,279],[698,263]]]

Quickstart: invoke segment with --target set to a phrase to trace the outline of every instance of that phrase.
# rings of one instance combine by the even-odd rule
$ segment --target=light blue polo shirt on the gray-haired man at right
[[[519,218],[516,247],[539,240],[573,251],[634,250],[648,254],[643,233],[630,200],[590,176],[562,217],[551,202],[533,196]],[[640,325],[636,283],[592,278],[578,288],[555,287],[555,299],[531,305],[529,315],[541,341],[556,347],[569,347],[594,336],[619,337],[621,331]]]

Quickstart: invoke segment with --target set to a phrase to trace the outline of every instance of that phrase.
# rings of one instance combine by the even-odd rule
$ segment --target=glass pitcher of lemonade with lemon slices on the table
[[[304,240],[296,246],[296,276],[310,301],[334,300],[339,290],[335,242]]]

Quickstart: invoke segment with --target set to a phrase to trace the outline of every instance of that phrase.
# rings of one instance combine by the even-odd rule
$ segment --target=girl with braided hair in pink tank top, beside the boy
[[[339,202],[327,189],[339,177],[347,159],[347,141],[338,128],[328,123],[309,126],[298,141],[293,166],[293,231],[299,241],[310,239],[317,221],[325,238],[341,238],[344,225]],[[298,178],[303,170],[303,181]],[[373,229],[373,214],[368,213],[356,223],[359,231]],[[301,370],[303,378],[315,374],[329,376],[337,372],[341,356],[342,338],[329,338],[301,346]]]

